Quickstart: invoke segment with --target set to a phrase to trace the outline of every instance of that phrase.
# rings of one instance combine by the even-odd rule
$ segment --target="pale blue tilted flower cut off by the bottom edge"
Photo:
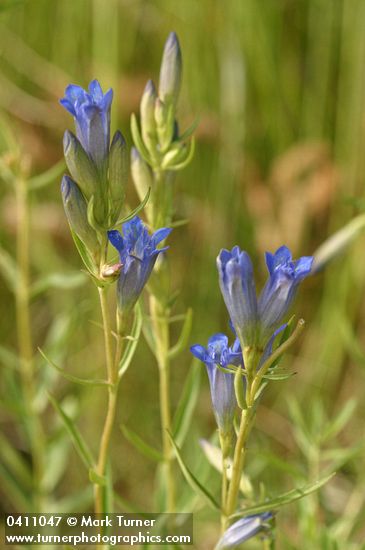
[[[264,523],[272,519],[272,517],[271,512],[264,512],[239,519],[228,527],[227,531],[219,539],[215,550],[236,548],[262,531],[265,528]]]

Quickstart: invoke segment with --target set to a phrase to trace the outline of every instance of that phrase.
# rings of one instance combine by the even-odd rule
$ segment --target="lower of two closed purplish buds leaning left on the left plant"
[[[87,204],[76,183],[68,176],[63,176],[61,182],[63,206],[68,223],[74,233],[81,239],[91,255],[100,248],[96,232],[87,220]]]

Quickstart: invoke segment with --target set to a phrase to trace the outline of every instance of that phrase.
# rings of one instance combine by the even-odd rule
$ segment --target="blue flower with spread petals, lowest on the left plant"
[[[111,244],[118,250],[121,271],[118,279],[117,297],[121,312],[130,311],[145,286],[157,256],[168,247],[157,249],[171,229],[163,228],[152,236],[137,216],[123,224],[123,235],[119,231],[108,231]]]

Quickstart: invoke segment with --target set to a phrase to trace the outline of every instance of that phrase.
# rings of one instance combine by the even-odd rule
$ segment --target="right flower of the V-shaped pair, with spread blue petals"
[[[269,335],[277,328],[288,313],[300,282],[309,275],[312,256],[293,261],[286,246],[278,248],[275,254],[266,253],[269,279],[259,298],[260,328],[263,335]]]

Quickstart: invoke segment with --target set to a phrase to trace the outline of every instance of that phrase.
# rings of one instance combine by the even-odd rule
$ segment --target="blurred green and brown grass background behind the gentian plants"
[[[365,2],[0,2],[1,116],[31,159],[32,174],[62,158],[62,135],[72,121],[58,99],[70,82],[86,86],[98,78],[104,89],[114,88],[112,124],[131,145],[130,114],[138,110],[147,79],[157,80],[171,30],[179,36],[184,59],[180,118],[188,126],[198,117],[199,126],[195,158],[176,183],[176,218],[189,218],[190,223],[174,231],[169,257],[175,286],[181,288],[177,311],[194,308],[191,343],[205,343],[213,332],[228,330],[215,268],[221,247],[239,244],[247,249],[262,283],[265,250],[285,243],[295,257],[309,255],[364,209]],[[132,183],[128,196],[137,204]],[[1,246],[12,252],[16,211],[12,190],[5,185],[0,187],[0,201]],[[31,253],[35,279],[81,267],[63,214],[59,181],[33,194]],[[361,238],[325,273],[303,285],[295,311],[306,319],[307,330],[295,353],[286,358],[297,374],[268,389],[248,458],[249,472],[263,479],[273,494],[291,488],[295,475],[288,463],[304,476],[314,474],[295,437],[288,397],[298,400],[304,419],[312,418],[307,432],[313,432],[309,437],[314,439],[324,429],[326,416],[332,418],[349,399],[357,398],[355,413],[338,438],[349,456],[339,461],[336,480],[322,492],[317,516],[323,525],[351,518],[337,527],[338,537],[346,541],[340,548],[361,548],[364,537],[364,452],[358,448],[365,415],[364,282]],[[15,348],[12,296],[2,280],[0,297],[1,340]],[[59,357],[70,372],[82,376],[103,368],[101,332],[94,323],[99,313],[89,283],[76,290],[51,288],[35,297],[32,320],[37,346],[45,345],[50,327],[58,337],[64,334]],[[174,365],[175,403],[190,363],[187,351]],[[121,388],[119,423],[156,445],[157,378],[142,343]],[[2,386],[8,391],[4,381]],[[57,382],[54,391],[77,398],[79,426],[95,442],[103,420],[101,392],[81,392],[64,381]],[[52,411],[47,414],[45,424],[54,423]],[[21,447],[11,413],[4,410],[1,422],[14,445]],[[193,468],[204,460],[196,448],[198,438],[209,437],[214,429],[204,376],[187,451]],[[138,455],[117,428],[113,459],[120,494],[139,508],[150,508],[154,465]],[[67,460],[59,497],[87,483],[78,457],[71,452]],[[6,494],[2,500],[8,510]],[[300,506],[317,510],[313,499]],[[298,515],[310,516],[310,510],[304,513],[300,506],[280,514],[282,548],[300,548],[295,546],[298,529],[313,529],[303,522],[298,527]],[[211,529],[209,521],[201,524],[199,538]],[[209,541],[199,544],[211,547]]]

